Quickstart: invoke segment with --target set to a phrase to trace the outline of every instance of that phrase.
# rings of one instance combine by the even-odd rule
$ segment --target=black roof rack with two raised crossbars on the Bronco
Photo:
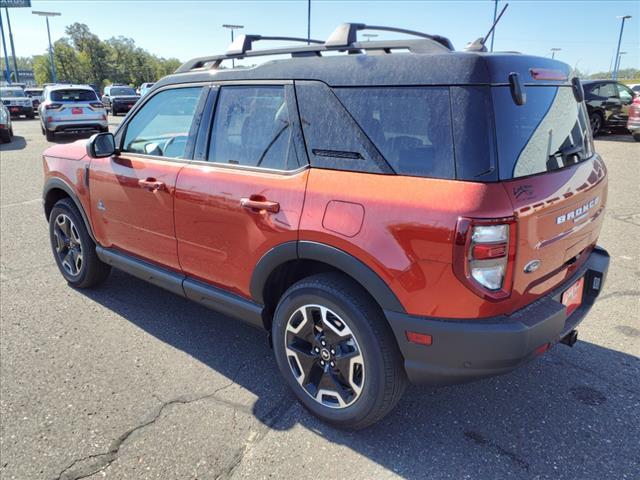
[[[383,30],[389,32],[399,32],[425,40],[389,40],[389,41],[367,41],[358,42],[357,32],[360,30]],[[279,40],[292,42],[305,42],[309,45],[288,46],[282,48],[268,50],[252,50],[254,42],[260,40]],[[321,52],[326,51],[348,51],[349,53],[360,53],[362,51],[371,51],[371,53],[391,53],[391,50],[405,49],[414,53],[425,53],[429,51],[429,47],[433,49],[434,42],[438,48],[453,50],[451,41],[446,37],[439,35],[430,35],[428,33],[416,32],[413,30],[405,30],[403,28],[382,27],[375,25],[365,25],[364,23],[343,23],[336,28],[329,38],[322,42],[321,40],[308,40],[299,37],[271,37],[262,35],[240,35],[229,46],[227,52],[222,55],[211,55],[205,57],[193,58],[182,64],[175,73],[184,73],[194,69],[215,69],[220,66],[223,60],[242,59],[248,57],[262,57],[272,55],[291,55],[292,57],[309,57],[321,56]]]

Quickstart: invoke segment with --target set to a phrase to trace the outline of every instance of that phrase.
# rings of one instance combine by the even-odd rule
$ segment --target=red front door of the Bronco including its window
[[[173,217],[178,172],[191,156],[206,88],[159,91],[118,132],[120,153],[91,160],[91,214],[100,244],[180,270]]]

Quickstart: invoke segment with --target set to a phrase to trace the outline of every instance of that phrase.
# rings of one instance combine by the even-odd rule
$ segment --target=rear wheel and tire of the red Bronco
[[[314,275],[289,288],[276,308],[272,338],[280,373],[297,399],[336,427],[376,423],[406,388],[402,355],[382,310],[343,275]]]

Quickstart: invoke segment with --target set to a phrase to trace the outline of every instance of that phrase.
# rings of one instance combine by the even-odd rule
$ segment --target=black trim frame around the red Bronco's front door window
[[[196,110],[193,115],[193,120],[191,123],[191,128],[189,130],[189,139],[187,140],[187,145],[185,146],[185,155],[183,158],[175,158],[175,157],[164,157],[161,155],[148,155],[145,153],[137,153],[137,152],[127,152],[123,150],[124,141],[127,136],[127,129],[129,128],[129,124],[136,117],[140,109],[144,108],[144,106],[149,102],[152,98],[158,95],[161,92],[166,90],[177,90],[179,88],[197,88],[201,87],[202,91],[200,93],[200,98],[198,100],[198,104],[196,105]],[[204,107],[206,105],[207,99],[210,95],[211,90],[210,82],[194,82],[194,83],[179,83],[179,84],[171,84],[166,85],[158,90],[156,90],[152,95],[145,95],[144,101],[139,104],[136,104],[131,111],[130,116],[123,121],[120,126],[116,129],[114,133],[115,143],[117,146],[117,154],[122,155],[125,154],[127,156],[135,156],[137,158],[142,159],[153,159],[153,160],[165,160],[179,163],[189,163],[193,159],[193,153],[195,148],[195,143],[197,139],[198,130],[200,127],[200,121],[202,120],[202,113]],[[148,97],[148,98],[147,98]]]

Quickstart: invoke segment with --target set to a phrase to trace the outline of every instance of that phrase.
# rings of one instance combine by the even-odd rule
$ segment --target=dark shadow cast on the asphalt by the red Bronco
[[[640,361],[622,352],[578,342],[502,377],[411,386],[381,422],[348,432],[297,405],[263,332],[119,271],[81,293],[249,390],[254,416],[270,429],[302,425],[404,478],[637,475]],[[344,476],[359,474],[347,467]]]

